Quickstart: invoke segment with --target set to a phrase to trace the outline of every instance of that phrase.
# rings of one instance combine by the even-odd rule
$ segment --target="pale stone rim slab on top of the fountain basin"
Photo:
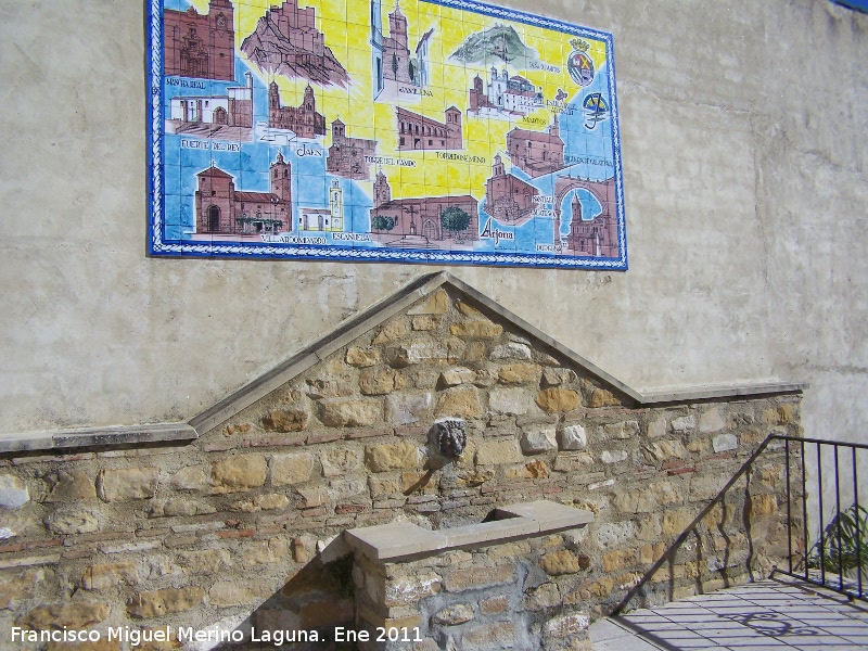
[[[430,531],[410,522],[347,529],[347,545],[374,561],[429,556],[467,547],[487,547],[516,538],[549,534],[593,522],[590,511],[548,500],[498,507],[495,520]]]

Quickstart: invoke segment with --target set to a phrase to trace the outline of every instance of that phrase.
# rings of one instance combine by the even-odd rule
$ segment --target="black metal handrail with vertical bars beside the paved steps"
[[[861,550],[859,546],[856,546],[856,572],[857,572],[857,579],[855,584],[855,590],[853,589],[854,586],[846,585],[844,583],[844,571],[843,571],[843,560],[841,554],[841,522],[838,519],[838,515],[841,513],[841,486],[840,486],[840,467],[839,467],[839,454],[838,450],[841,447],[850,448],[852,451],[852,469],[853,469],[853,494],[855,500],[855,510],[858,514],[859,512],[859,493],[858,493],[858,473],[856,472],[856,462],[857,450],[868,450],[868,445],[857,444],[857,443],[840,443],[835,441],[824,441],[820,438],[802,438],[796,436],[784,436],[781,434],[770,434],[768,435],[763,443],[754,450],[751,457],[744,462],[744,464],[736,472],[735,475],[726,483],[726,485],[720,489],[720,492],[715,496],[714,499],[709,502],[709,505],[697,515],[693,521],[685,528],[684,532],[675,539],[675,541],[666,549],[666,551],[654,562],[653,565],[644,573],[642,578],[627,592],[626,597],[615,607],[612,611],[613,615],[617,615],[627,607],[630,600],[642,589],[646,583],[654,575],[654,573],[660,570],[664,563],[668,562],[681,545],[687,540],[690,534],[697,528],[700,522],[714,509],[720,501],[723,501],[724,497],[726,496],[727,492],[738,482],[744,473],[746,473],[757,458],[768,448],[769,444],[773,441],[782,441],[784,443],[784,451],[787,458],[786,464],[786,482],[787,482],[787,538],[788,538],[788,571],[781,570],[779,567],[775,567],[773,571],[773,575],[777,572],[780,574],[784,574],[788,576],[792,576],[804,580],[809,584],[814,584],[817,586],[822,586],[838,592],[841,592],[847,596],[851,599],[863,599],[868,600],[868,593],[863,588],[863,573],[861,573]],[[799,573],[796,570],[799,569],[796,565],[793,564],[793,519],[792,519],[792,502],[793,502],[793,492],[792,492],[792,477],[791,477],[791,443],[795,442],[800,445],[800,460],[802,467],[802,492],[801,492],[801,499],[802,499],[802,535],[803,535],[803,558],[801,562],[801,566],[803,572]],[[819,499],[819,522],[820,522],[820,536],[819,536],[819,551],[820,551],[820,559],[822,559],[825,549],[826,549],[826,537],[825,537],[825,529],[822,528],[826,523],[824,519],[824,499],[822,499],[822,446],[832,446],[834,449],[834,482],[835,482],[835,514],[834,519],[837,519],[838,525],[838,560],[839,560],[839,572],[838,572],[838,585],[830,585],[826,580],[826,567],[822,560],[820,561],[820,578],[819,580],[812,575],[808,567],[808,554],[813,549],[808,545],[808,533],[807,533],[807,501],[808,501],[808,493],[807,493],[807,473],[805,471],[805,445],[812,444],[815,445],[817,448],[817,485],[818,485],[818,499]],[[856,519],[856,538],[859,538],[859,528],[858,528],[858,518]]]

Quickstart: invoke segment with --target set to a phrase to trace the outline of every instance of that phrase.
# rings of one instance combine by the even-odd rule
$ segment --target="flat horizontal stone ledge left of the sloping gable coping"
[[[93,446],[191,441],[199,433],[187,423],[158,423],[151,425],[118,425],[81,430],[54,430],[25,432],[0,436],[0,454],[61,450]]]

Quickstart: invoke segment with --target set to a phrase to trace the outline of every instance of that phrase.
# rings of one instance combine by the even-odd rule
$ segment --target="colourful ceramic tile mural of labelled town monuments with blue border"
[[[470,0],[152,0],[153,255],[626,269],[612,37]]]

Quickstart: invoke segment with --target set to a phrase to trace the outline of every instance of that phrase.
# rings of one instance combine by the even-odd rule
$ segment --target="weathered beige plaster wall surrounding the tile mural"
[[[614,35],[630,268],[452,267],[647,391],[868,420],[868,16],[509,0]],[[144,3],[0,2],[0,434],[187,420],[435,267],[145,256]]]

